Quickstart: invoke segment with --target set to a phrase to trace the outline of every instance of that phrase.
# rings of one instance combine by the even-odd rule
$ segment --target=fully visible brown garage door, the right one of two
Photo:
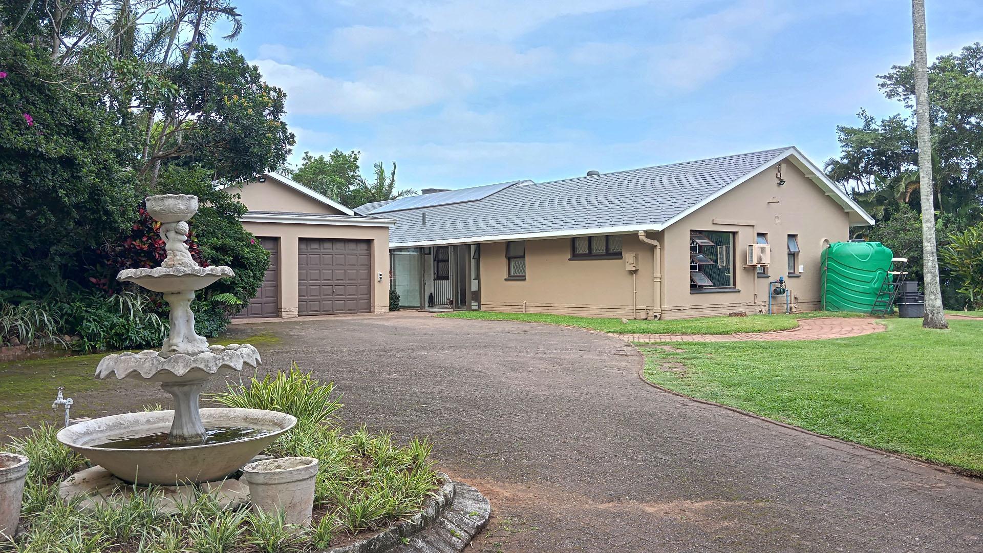
[[[369,240],[301,238],[298,269],[299,315],[372,311]]]

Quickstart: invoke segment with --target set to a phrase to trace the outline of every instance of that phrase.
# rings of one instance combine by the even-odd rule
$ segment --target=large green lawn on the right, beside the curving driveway
[[[983,321],[885,324],[856,338],[639,346],[646,378],[669,390],[983,475]]]

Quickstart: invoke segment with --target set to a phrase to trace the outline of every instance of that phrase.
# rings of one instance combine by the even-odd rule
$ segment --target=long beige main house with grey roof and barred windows
[[[822,249],[874,222],[796,148],[434,191],[356,213],[396,221],[392,285],[405,306],[629,319],[755,313],[779,277],[795,307],[817,309]]]

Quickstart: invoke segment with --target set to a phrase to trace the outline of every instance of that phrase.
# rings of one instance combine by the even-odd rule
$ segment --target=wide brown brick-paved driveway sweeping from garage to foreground
[[[630,345],[421,314],[236,326],[428,435],[492,499],[477,551],[983,551],[983,484],[665,394]]]

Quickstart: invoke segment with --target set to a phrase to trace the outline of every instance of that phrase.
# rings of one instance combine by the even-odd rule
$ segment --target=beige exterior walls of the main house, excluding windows
[[[786,276],[786,237],[797,234],[801,276],[788,278],[789,289],[801,311],[819,307],[820,254],[823,240],[848,238],[848,215],[815,183],[791,163],[784,163],[784,186],[774,169],[740,184],[704,208],[665,229],[650,232],[662,243],[662,292],[659,304],[665,319],[725,315],[732,311],[756,313],[768,301],[768,281]],[[778,217],[778,218],[776,218]],[[739,291],[691,293],[689,287],[689,231],[736,232],[734,284]],[[769,235],[773,265],[769,278],[744,268],[746,246],[758,232]],[[482,245],[482,309],[489,311],[559,313],[632,318],[633,286],[637,314],[653,312],[653,247],[637,235],[624,235],[625,257],[637,254],[638,271],[625,271],[621,260],[570,261],[570,239],[526,241],[526,279],[507,280],[505,244]]]

